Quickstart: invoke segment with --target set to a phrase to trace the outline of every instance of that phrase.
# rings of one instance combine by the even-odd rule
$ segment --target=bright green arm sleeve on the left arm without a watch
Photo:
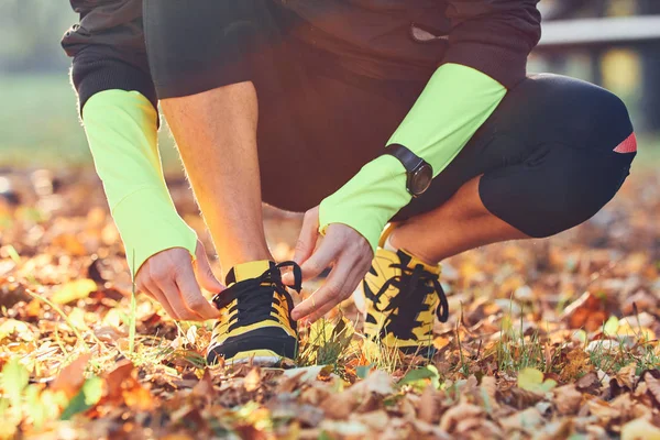
[[[163,177],[153,105],[136,91],[106,90],[94,95],[82,110],[131,274],[166,249],[184,248],[194,256],[197,235],[177,215]]]

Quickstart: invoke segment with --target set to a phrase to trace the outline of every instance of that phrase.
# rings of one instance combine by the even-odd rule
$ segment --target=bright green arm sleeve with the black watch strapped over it
[[[446,64],[431,77],[388,144],[405,145],[440,174],[495,111],[506,88],[471,67]],[[385,224],[411,199],[406,169],[393,156],[366,164],[320,205],[319,224],[343,223],[377,248]]]

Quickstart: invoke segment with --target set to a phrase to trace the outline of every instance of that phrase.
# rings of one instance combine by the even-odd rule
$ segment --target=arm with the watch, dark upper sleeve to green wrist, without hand
[[[539,0],[448,0],[452,29],[441,66],[389,140],[441,173],[526,75],[540,37]],[[369,163],[321,202],[321,231],[344,223],[377,246],[385,223],[410,201],[404,166],[394,157]]]

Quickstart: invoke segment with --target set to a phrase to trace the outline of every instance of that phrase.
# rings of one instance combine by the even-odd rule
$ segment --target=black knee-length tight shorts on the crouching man
[[[263,199],[283,209],[318,205],[376,157],[433,74],[429,68],[424,80],[354,74],[341,55],[298,40],[296,26],[308,24],[274,0],[189,4],[144,3],[158,98],[252,81]],[[531,76],[396,219],[432,210],[482,176],[480,195],[492,213],[530,237],[551,235],[614,197],[635,151],[616,96],[572,78]]]

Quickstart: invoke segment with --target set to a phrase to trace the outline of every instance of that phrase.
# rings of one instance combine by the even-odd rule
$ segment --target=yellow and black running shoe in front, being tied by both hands
[[[294,301],[282,283],[280,268],[293,267],[295,289],[300,292],[300,267],[294,262],[258,261],[241,264],[227,276],[228,288],[213,298],[222,312],[216,322],[207,362],[252,362],[275,365],[294,360],[298,344]]]

